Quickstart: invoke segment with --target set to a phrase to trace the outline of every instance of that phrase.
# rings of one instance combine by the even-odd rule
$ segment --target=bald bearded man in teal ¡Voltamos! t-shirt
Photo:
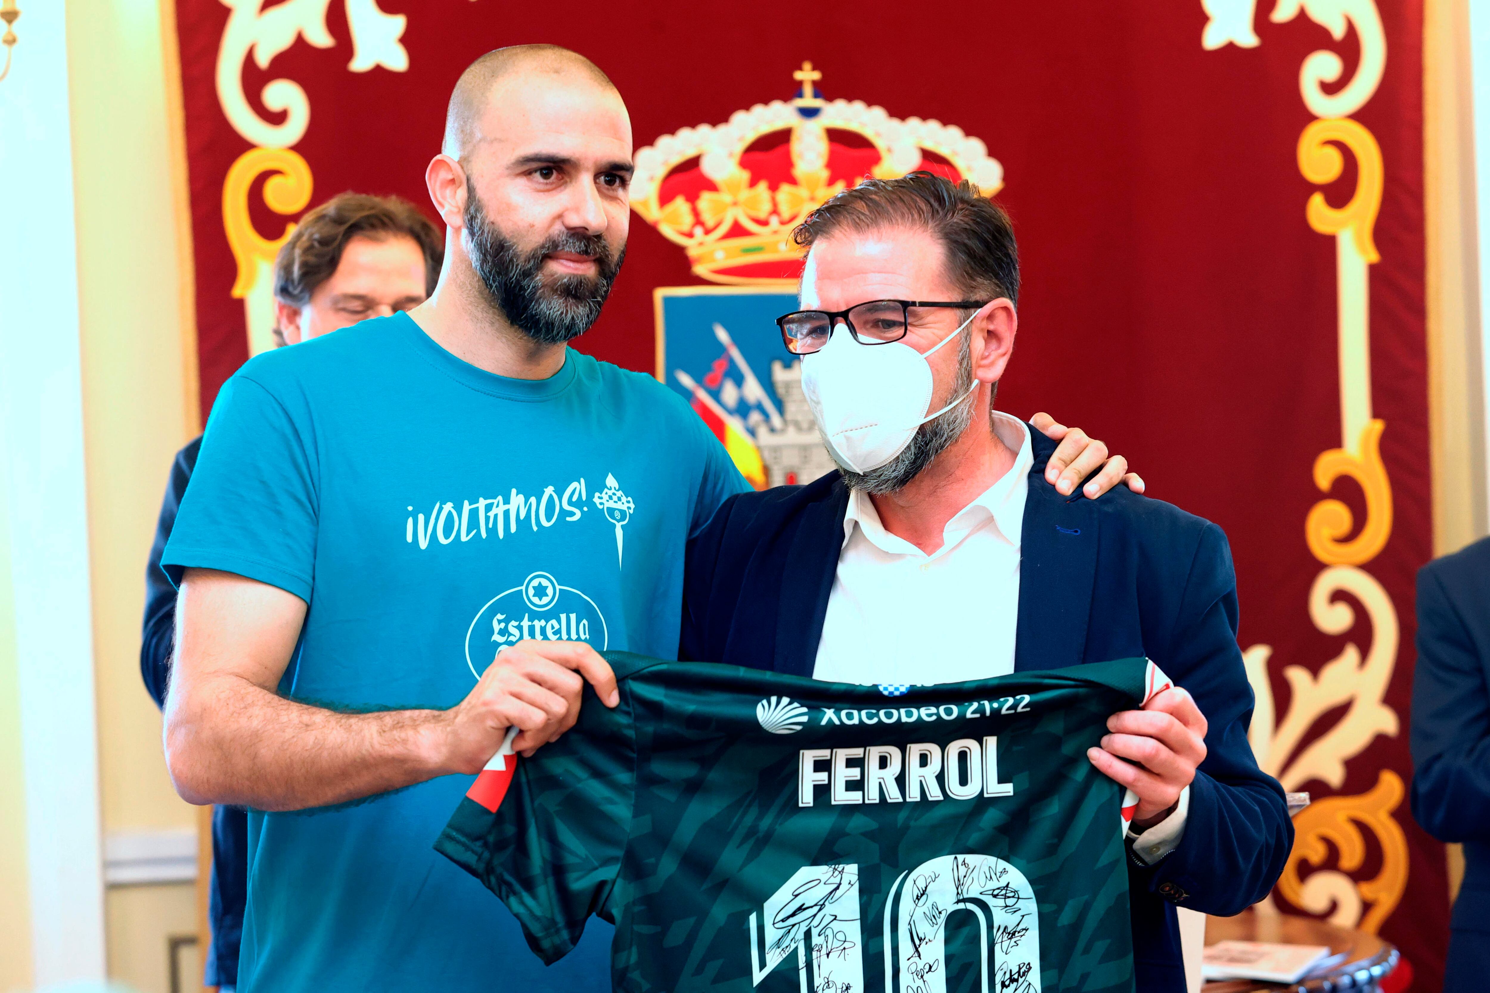
[[[593,64],[483,57],[426,173],[435,293],[216,400],[162,557],[165,747],[188,801],[250,808],[244,993],[608,986],[608,925],[542,969],[432,843],[508,728],[553,740],[586,680],[615,704],[597,651],[675,658],[685,543],[746,485],[678,396],[565,344],[620,268],[630,173]]]

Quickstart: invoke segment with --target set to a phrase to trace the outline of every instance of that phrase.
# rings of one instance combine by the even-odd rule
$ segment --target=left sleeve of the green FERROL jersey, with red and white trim
[[[493,756],[435,841],[507,904],[547,965],[575,947],[590,914],[615,922],[636,782],[630,686],[620,688],[611,710],[587,683],[575,727],[532,758]]]

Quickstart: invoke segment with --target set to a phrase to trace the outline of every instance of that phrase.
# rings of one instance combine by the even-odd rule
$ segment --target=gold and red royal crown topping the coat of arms
[[[714,283],[796,281],[802,252],[791,231],[861,179],[928,170],[970,179],[985,197],[1004,168],[988,147],[940,121],[891,118],[860,100],[824,100],[822,73],[803,63],[797,97],[730,115],[727,124],[665,134],[636,152],[632,208],[684,247],[693,272]]]

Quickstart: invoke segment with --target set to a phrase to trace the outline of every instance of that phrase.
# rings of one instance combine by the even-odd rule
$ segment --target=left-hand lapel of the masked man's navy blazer
[[[797,520],[781,578],[776,607],[776,658],[772,668],[793,676],[812,676],[822,640],[822,619],[843,551],[843,514],[848,487],[839,479],[828,499],[811,505]]]

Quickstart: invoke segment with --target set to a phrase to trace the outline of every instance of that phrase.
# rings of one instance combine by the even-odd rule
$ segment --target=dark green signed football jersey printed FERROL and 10
[[[1147,660],[857,686],[606,658],[620,704],[587,686],[504,749],[435,846],[545,962],[599,914],[627,993],[1132,990],[1137,801],[1086,749],[1170,685]]]

